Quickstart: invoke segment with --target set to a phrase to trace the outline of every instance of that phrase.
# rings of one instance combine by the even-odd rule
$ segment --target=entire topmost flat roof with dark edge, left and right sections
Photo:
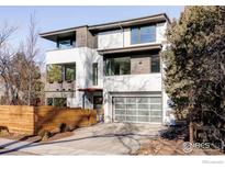
[[[109,22],[103,24],[97,24],[97,25],[81,25],[81,26],[75,26],[69,29],[63,29],[63,30],[56,30],[50,32],[44,32],[41,33],[40,36],[49,41],[56,41],[57,37],[66,37],[69,35],[75,34],[77,29],[80,27],[87,27],[89,31],[93,33],[109,31],[109,30],[116,30],[121,27],[128,27],[128,26],[135,26],[135,25],[142,25],[147,23],[160,23],[160,22],[169,22],[170,20],[167,16],[166,13],[159,13],[155,15],[148,15],[143,18],[135,18],[130,20],[123,20],[123,21],[116,21],[116,22]]]

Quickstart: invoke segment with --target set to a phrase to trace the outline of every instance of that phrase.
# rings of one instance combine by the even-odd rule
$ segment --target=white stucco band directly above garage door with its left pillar
[[[105,121],[112,122],[112,97],[136,95],[142,97],[150,94],[161,95],[161,74],[147,75],[126,75],[126,76],[109,76],[103,80],[104,112]]]

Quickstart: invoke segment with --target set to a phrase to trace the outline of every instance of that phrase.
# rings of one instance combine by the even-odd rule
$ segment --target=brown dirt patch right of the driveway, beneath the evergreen
[[[162,131],[160,136],[143,144],[134,155],[223,155],[216,148],[191,148],[187,151],[183,143],[189,140],[188,127],[177,126]]]

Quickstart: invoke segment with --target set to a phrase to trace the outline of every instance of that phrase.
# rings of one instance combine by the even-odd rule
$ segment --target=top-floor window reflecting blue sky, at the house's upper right
[[[156,25],[133,27],[131,30],[131,44],[156,42]]]

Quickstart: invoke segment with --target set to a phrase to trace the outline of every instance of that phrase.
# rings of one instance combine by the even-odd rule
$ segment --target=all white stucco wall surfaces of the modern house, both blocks
[[[149,74],[106,76],[103,72],[104,55],[100,55],[99,53],[101,49],[121,49],[123,47],[137,48],[138,46],[157,46],[159,44],[162,47],[161,50],[164,50],[167,45],[165,36],[167,25],[167,21],[156,23],[156,41],[151,43],[131,44],[131,27],[123,29],[121,26],[113,31],[99,31],[95,34],[97,47],[75,47],[70,49],[47,52],[46,65],[76,63],[76,94],[72,98],[67,98],[67,105],[71,108],[82,106],[83,92],[79,91],[79,89],[102,89],[98,94],[103,98],[102,108],[104,112],[104,120],[105,122],[112,122],[115,114],[113,112],[113,97],[155,97],[161,99],[161,123],[170,123],[168,113],[170,109],[162,80],[164,63],[161,60],[160,72],[150,74],[149,71]],[[132,55],[130,52],[128,54]],[[93,63],[98,63],[98,86],[92,84]],[[93,101],[90,101],[90,98],[85,99],[85,104],[86,108],[93,109]]]

